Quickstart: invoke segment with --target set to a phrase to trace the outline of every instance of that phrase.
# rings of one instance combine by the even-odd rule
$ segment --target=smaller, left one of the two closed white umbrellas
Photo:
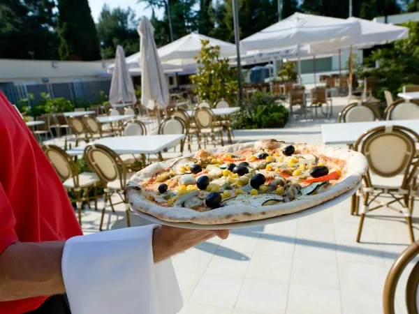
[[[112,81],[109,91],[110,104],[136,103],[133,80],[126,66],[124,49],[118,45],[115,57],[115,68],[112,73]]]

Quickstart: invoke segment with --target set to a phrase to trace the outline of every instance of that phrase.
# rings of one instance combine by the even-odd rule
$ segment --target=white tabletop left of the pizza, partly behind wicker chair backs
[[[105,145],[117,154],[156,154],[161,158],[163,149],[173,147],[184,137],[184,134],[104,137],[89,144]],[[75,147],[68,150],[67,154],[78,156],[83,151],[84,147]]]

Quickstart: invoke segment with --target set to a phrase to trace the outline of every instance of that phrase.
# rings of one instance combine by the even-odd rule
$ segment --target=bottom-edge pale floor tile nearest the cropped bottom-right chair
[[[342,314],[383,314],[383,294],[341,291]]]

